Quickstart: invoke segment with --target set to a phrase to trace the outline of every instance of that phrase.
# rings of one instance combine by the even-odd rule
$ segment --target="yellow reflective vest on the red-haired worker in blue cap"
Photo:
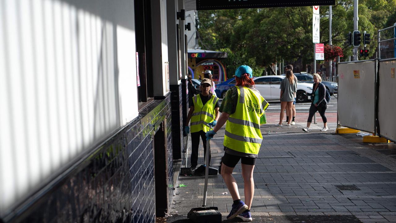
[[[260,118],[264,115],[268,102],[256,89],[236,86],[238,102],[233,114],[227,120],[224,146],[238,152],[259,154],[263,136]]]

